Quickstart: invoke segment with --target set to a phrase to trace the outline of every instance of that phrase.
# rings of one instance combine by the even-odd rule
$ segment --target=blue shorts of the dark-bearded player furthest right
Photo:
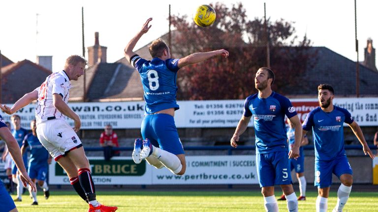
[[[315,160],[315,182],[318,188],[332,185],[332,173],[339,179],[343,174],[353,174],[347,156],[343,155],[333,160]]]

